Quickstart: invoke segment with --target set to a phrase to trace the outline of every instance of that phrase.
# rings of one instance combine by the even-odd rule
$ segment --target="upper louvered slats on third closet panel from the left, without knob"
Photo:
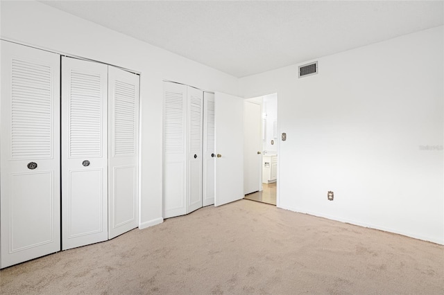
[[[135,85],[114,85],[114,155],[135,153]]]

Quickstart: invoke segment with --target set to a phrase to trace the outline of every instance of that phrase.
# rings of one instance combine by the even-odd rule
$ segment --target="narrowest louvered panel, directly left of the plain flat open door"
[[[214,204],[214,93],[203,93],[203,206]]]

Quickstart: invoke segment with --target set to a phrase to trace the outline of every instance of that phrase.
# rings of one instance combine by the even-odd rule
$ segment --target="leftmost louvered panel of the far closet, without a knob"
[[[164,82],[164,218],[187,214],[187,87]]]

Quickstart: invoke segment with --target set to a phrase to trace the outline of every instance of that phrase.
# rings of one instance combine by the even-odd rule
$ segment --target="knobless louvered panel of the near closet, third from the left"
[[[138,221],[139,75],[108,66],[108,238]]]

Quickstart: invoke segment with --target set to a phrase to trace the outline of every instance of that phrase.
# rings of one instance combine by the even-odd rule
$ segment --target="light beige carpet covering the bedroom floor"
[[[1,294],[444,294],[444,247],[241,200],[0,275]]]

